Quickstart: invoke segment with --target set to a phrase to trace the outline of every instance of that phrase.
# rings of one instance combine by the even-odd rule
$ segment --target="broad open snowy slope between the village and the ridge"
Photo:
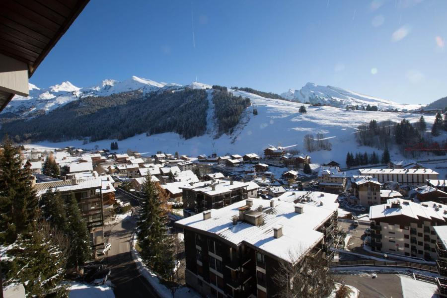
[[[182,139],[175,133],[157,134],[147,137],[146,134],[136,135],[122,141],[118,141],[119,151],[127,149],[154,154],[156,151],[175,152],[197,156],[199,154],[218,155],[226,153],[257,153],[262,155],[263,149],[269,144],[274,146],[297,145],[294,149],[307,153],[303,146],[303,138],[306,134],[323,133],[325,137],[331,137],[332,150],[321,150],[309,153],[312,162],[323,163],[330,159],[337,160],[342,165],[346,159],[346,152],[379,152],[370,147],[358,146],[355,140],[357,126],[365,121],[375,119],[377,121],[408,119],[415,122],[420,115],[411,113],[388,113],[371,111],[346,111],[342,108],[320,106],[307,106],[307,113],[298,112],[301,103],[289,102],[277,99],[268,99],[252,93],[233,90],[234,95],[249,97],[252,106],[244,117],[250,117],[249,121],[232,136],[223,135],[214,140],[209,134],[194,137],[188,140]],[[258,110],[258,115],[252,115],[252,109]],[[243,118],[244,118],[243,117]],[[434,116],[425,116],[429,129],[434,121]],[[241,119],[241,122],[246,119]],[[212,126],[209,127],[212,129]],[[234,138],[234,136],[237,136]],[[40,142],[36,145],[46,147],[63,148],[75,146],[80,148],[109,148],[111,142],[117,140],[102,140],[82,145],[82,141],[67,141],[60,143]],[[381,152],[379,152],[381,153]],[[401,158],[399,152],[390,152],[391,158]]]

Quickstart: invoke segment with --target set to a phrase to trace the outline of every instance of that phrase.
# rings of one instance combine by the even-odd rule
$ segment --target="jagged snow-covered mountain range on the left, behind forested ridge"
[[[29,83],[29,96],[15,96],[2,113],[30,117],[41,113],[48,113],[57,107],[87,96],[107,96],[133,90],[141,90],[146,93],[161,89],[176,89],[182,87],[187,86],[175,83],[158,83],[135,75],[123,81],[105,79],[97,85],[83,88],[76,87],[69,81],[44,89]],[[191,88],[193,87],[191,86]]]

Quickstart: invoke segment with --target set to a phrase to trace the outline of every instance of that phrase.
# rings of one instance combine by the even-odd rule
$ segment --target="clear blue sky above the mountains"
[[[429,103],[447,96],[446,40],[445,0],[90,0],[31,82],[313,82]]]

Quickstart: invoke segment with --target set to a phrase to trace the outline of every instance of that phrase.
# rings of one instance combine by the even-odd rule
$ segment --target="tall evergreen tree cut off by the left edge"
[[[22,166],[20,149],[5,136],[0,151],[0,243],[12,243],[18,233],[33,229],[37,198],[28,166]]]

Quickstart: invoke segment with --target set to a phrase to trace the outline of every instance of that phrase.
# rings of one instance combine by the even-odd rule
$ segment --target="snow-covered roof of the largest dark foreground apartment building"
[[[245,204],[245,201],[240,201],[218,210],[212,209],[208,220],[197,214],[176,224],[214,233],[234,245],[247,243],[257,250],[295,263],[323,238],[323,234],[315,229],[333,214],[333,211],[311,205],[304,206],[304,212],[298,214],[294,203],[275,200],[274,207],[270,207],[268,200],[253,199],[251,212],[261,206],[264,223],[253,225],[238,221],[233,224],[233,217],[239,217],[239,208]],[[279,225],[283,233],[275,238],[273,228]]]

